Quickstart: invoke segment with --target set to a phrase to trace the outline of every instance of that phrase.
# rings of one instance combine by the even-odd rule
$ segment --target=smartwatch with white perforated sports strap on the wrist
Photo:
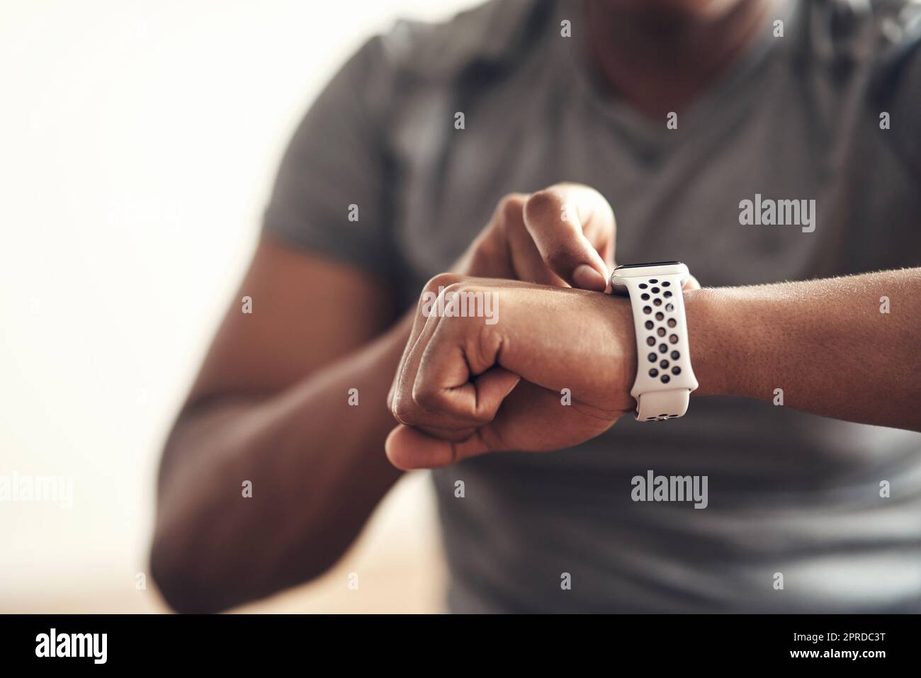
[[[684,415],[697,388],[682,287],[690,277],[681,262],[631,263],[611,275],[611,293],[629,296],[636,333],[636,421]]]

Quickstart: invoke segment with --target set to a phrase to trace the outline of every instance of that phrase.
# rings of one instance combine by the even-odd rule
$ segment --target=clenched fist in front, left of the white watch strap
[[[491,299],[495,322],[449,317],[433,306],[461,298]],[[401,426],[387,438],[387,455],[398,468],[414,469],[485,452],[570,447],[633,409],[635,373],[624,298],[437,275],[423,291],[391,387]]]

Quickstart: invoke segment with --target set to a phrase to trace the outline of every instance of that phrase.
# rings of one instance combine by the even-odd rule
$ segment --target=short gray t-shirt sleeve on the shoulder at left
[[[384,57],[380,38],[367,41],[310,107],[282,158],[262,232],[387,279],[394,248]]]

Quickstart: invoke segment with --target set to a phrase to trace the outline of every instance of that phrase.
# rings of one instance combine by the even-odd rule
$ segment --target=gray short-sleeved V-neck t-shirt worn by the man
[[[705,286],[921,265],[921,52],[898,5],[778,3],[677,129],[592,79],[577,3],[400,23],[309,111],[264,228],[379,275],[406,304],[503,194],[564,180],[610,200],[620,262],[680,260]],[[740,225],[756,193],[815,199],[815,230]],[[708,506],[635,502],[649,471],[707,476]],[[456,612],[921,610],[915,433],[697,398],[667,424],[628,417],[575,449],[433,477]]]

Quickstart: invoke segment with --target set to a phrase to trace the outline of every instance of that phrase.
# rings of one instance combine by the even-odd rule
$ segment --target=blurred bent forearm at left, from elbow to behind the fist
[[[161,468],[151,555],[174,607],[219,610],[262,597],[342,555],[400,474],[382,450],[393,423],[386,395],[408,333],[401,321],[286,392],[227,397],[181,417]]]

